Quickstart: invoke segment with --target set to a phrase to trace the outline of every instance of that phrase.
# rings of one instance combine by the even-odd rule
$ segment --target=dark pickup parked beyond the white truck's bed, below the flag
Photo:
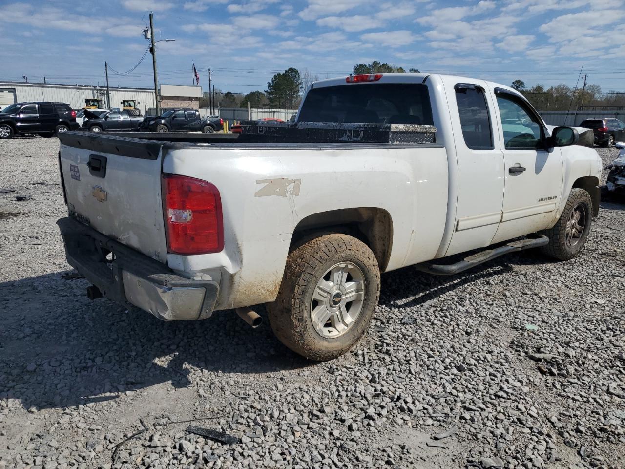
[[[224,121],[215,116],[201,118],[197,109],[172,109],[161,116],[143,118],[144,132],[192,132],[212,134],[223,128]]]

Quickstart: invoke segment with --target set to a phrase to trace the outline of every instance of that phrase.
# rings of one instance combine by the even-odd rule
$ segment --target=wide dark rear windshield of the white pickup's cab
[[[313,88],[306,94],[298,120],[433,124],[427,86],[413,83],[356,83]]]

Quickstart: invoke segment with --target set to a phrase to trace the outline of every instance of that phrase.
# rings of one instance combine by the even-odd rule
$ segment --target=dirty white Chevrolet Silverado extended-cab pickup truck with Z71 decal
[[[599,209],[596,151],[576,129],[550,134],[496,83],[326,79],[307,91],[304,122],[436,129],[421,144],[60,135],[58,224],[89,297],[163,320],[235,309],[252,325],[249,306],[266,303],[286,346],[328,360],[366,330],[381,272],[448,275],[534,247],[569,260]]]

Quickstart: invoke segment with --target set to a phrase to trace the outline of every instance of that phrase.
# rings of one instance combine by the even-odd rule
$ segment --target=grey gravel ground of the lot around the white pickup
[[[569,262],[382,276],[361,343],[309,363],[232,311],[89,301],[54,224],[57,151],[0,142],[0,468],[625,467],[624,205]]]

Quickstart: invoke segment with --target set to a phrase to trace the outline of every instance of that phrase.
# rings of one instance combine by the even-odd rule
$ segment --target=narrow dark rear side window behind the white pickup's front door
[[[492,150],[491,116],[481,88],[456,86],[456,103],[464,143],[474,150]]]

